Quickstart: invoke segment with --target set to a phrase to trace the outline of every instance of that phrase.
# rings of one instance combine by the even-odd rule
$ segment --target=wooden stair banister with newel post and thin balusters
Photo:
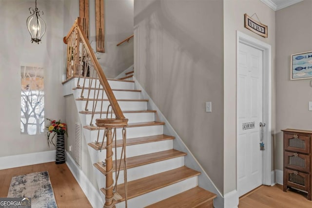
[[[74,25],[70,29],[68,35],[63,38],[65,44],[67,44],[67,62],[66,62],[66,79],[71,79],[78,77],[77,88],[81,89],[80,100],[85,101],[85,111],[89,112],[89,108],[92,106],[92,118],[90,122],[90,129],[98,129],[98,139],[96,143],[99,142],[100,130],[104,129],[104,135],[102,138],[101,145],[104,144],[104,139],[106,137],[106,158],[103,162],[103,166],[106,169],[106,188],[105,188],[105,204],[104,208],[114,208],[115,200],[118,196],[117,189],[117,178],[114,185],[113,180],[113,137],[116,139],[116,128],[123,128],[122,130],[122,139],[123,139],[123,148],[121,153],[121,158],[123,157],[124,162],[124,173],[126,174],[126,157],[125,157],[125,143],[126,143],[126,132],[125,127],[128,125],[128,119],[124,117],[120,106],[118,105],[117,99],[113,94],[113,91],[107,81],[106,76],[98,62],[98,59],[92,50],[89,40],[85,35],[85,30],[81,25],[84,21],[82,18],[75,20]],[[82,86],[80,86],[80,83]],[[85,93],[85,91],[87,91]],[[104,91],[107,96],[107,99],[104,99]],[[87,97],[85,97],[87,94]],[[109,101],[109,107],[112,108],[116,118],[101,118],[102,112],[105,112],[107,106],[104,105],[104,102]],[[100,102],[100,104],[99,104]],[[93,125],[94,115],[96,113],[100,114],[100,118],[96,119],[97,127]],[[115,136],[114,136],[115,135]],[[115,143],[116,144],[116,143]],[[120,158],[120,163],[121,163]],[[117,164],[115,165],[117,167]],[[117,168],[116,168],[117,170]],[[125,175],[126,176],[126,175]],[[126,179],[126,177],[125,177]],[[126,185],[125,181],[125,185]],[[126,186],[125,186],[126,188]],[[126,192],[125,192],[126,193]],[[127,196],[127,194],[126,194]],[[125,197],[126,197],[125,196]],[[127,198],[126,198],[127,199]],[[127,203],[126,203],[127,207]]]

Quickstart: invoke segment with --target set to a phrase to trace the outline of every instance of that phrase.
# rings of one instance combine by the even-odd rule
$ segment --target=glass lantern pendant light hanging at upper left
[[[46,24],[45,21],[40,17],[43,15],[43,12],[38,10],[37,8],[37,0],[36,0],[36,8],[29,8],[30,16],[27,18],[27,28],[31,35],[31,42],[36,42],[39,44],[42,36],[45,33]]]

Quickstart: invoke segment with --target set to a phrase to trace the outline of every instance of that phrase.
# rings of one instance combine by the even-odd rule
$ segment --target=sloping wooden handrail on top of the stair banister
[[[113,111],[115,113],[115,116],[117,119],[126,119],[120,109],[120,106],[116,100],[115,95],[113,94],[113,91],[107,81],[106,76],[104,75],[104,72],[102,70],[102,67],[100,66],[100,64],[98,63],[98,59],[96,57],[96,55],[94,54],[92,47],[90,45],[90,42],[88,41],[85,33],[83,32],[82,27],[79,25],[78,22],[81,22],[81,18],[77,18],[73,27],[70,29],[70,32],[68,33],[68,35],[64,38],[64,42],[67,44],[67,39],[70,37],[70,34],[74,31],[75,28],[78,29],[78,32],[80,34],[80,38],[82,40],[82,42],[84,43],[84,45],[86,46],[86,50],[91,58],[91,61],[94,65],[95,70],[98,73],[98,77],[99,77],[99,81],[101,83],[101,85],[103,86],[105,93],[107,95],[107,98],[110,102],[110,104],[112,105]]]

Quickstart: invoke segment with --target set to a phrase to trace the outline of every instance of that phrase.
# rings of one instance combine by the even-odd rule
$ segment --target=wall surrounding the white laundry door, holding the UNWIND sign
[[[268,38],[244,28],[245,13],[256,13],[268,25]],[[272,134],[275,130],[275,12],[260,0],[224,0],[224,193],[236,189],[237,30],[272,46]]]

